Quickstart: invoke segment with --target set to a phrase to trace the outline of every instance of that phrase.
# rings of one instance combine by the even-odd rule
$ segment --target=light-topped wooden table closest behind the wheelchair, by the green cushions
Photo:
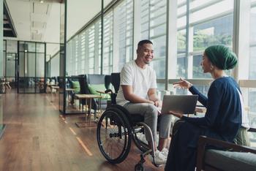
[[[102,96],[99,96],[97,94],[75,94],[75,99],[79,99],[79,108],[80,108],[80,100],[82,99],[85,99],[86,100],[86,105],[87,105],[87,102],[89,100],[89,117],[90,117],[90,120],[91,120],[91,99],[94,99],[94,98],[97,98],[99,99],[99,109],[101,111],[101,99],[102,99]],[[82,104],[82,113],[83,113],[83,104]],[[87,113],[87,110],[86,110],[86,113]],[[94,120],[96,119],[96,115],[94,115]]]

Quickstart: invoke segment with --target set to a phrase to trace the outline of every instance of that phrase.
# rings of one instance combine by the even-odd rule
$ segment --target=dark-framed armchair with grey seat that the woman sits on
[[[251,131],[256,132],[255,129]],[[219,149],[206,148],[209,145]],[[197,171],[199,170],[255,171],[256,148],[201,136],[197,145]]]

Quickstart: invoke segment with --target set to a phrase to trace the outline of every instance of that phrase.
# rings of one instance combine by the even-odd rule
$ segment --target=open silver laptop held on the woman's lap
[[[197,99],[198,95],[165,95],[161,113],[169,113],[170,110],[184,114],[195,113]]]

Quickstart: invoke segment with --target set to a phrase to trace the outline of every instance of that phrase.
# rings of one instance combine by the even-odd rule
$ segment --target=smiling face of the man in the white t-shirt
[[[150,43],[143,44],[138,47],[137,58],[144,62],[144,64],[149,64],[154,58],[153,45]]]

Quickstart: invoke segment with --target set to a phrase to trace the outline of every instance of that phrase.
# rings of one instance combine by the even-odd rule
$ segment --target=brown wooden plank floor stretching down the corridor
[[[134,170],[139,154],[132,146],[121,164],[109,164],[97,146],[96,126],[78,128],[83,115],[59,113],[50,94],[5,94],[0,170]],[[54,102],[54,101],[53,101]],[[56,104],[56,103],[55,103]],[[146,159],[145,170],[164,170]]]

